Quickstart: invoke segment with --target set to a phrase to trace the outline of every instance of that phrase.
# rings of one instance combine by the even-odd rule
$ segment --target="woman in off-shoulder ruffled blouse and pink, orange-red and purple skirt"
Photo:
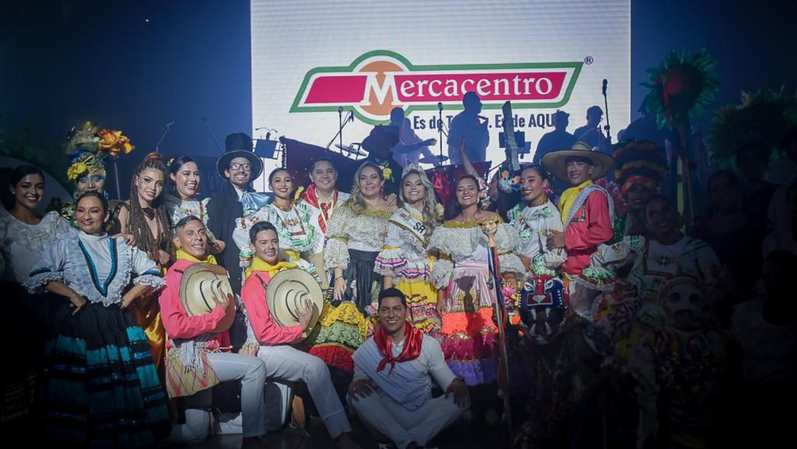
[[[450,211],[453,219],[438,226],[429,243],[430,250],[440,253],[432,278],[442,315],[443,354],[451,370],[469,385],[489,384],[497,376],[493,305],[501,286],[495,286],[489,274],[488,238],[482,224],[500,222],[495,241],[505,281],[516,288],[516,280],[525,273],[517,257],[517,230],[499,215],[481,209],[479,191],[473,176],[459,179]]]

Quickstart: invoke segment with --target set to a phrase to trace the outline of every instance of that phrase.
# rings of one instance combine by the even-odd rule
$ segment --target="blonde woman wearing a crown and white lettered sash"
[[[383,288],[395,286],[406,295],[412,325],[440,340],[437,289],[432,283],[434,257],[428,254],[426,245],[438,226],[442,207],[434,198],[426,172],[417,163],[404,168],[398,197],[402,207],[387,220],[387,237],[376,257],[375,270],[383,276]]]

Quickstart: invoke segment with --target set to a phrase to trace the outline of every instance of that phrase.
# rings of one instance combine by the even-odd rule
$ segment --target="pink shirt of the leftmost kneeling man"
[[[199,337],[203,333],[210,333],[216,328],[218,323],[226,315],[226,310],[216,307],[210,313],[190,317],[186,313],[183,301],[180,301],[180,279],[183,278],[183,271],[186,267],[196,263],[189,260],[180,259],[171,266],[166,274],[166,287],[161,290],[158,302],[160,303],[160,315],[163,320],[163,327],[169,336],[169,346],[172,347],[171,339],[178,338],[189,340]],[[211,351],[218,348],[230,346],[230,335],[225,331],[214,334],[214,340],[208,342],[207,349]],[[229,350],[228,350],[229,351]]]

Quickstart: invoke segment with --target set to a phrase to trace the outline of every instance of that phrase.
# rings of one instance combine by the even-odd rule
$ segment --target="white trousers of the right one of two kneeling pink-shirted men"
[[[351,431],[343,404],[340,404],[329,377],[329,368],[323,360],[287,345],[261,346],[257,356],[265,362],[267,377],[307,384],[312,402],[316,404],[332,439]]]

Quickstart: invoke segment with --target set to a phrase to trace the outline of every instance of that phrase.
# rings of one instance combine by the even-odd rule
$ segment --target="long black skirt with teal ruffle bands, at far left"
[[[53,313],[42,390],[43,439],[53,446],[147,447],[168,436],[167,397],[147,337],[131,313],[69,301]]]

